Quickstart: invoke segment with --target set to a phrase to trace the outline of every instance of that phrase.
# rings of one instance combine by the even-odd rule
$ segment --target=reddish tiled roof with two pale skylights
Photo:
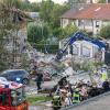
[[[92,3],[86,7],[72,9],[64,13],[64,19],[110,20],[110,3]]]

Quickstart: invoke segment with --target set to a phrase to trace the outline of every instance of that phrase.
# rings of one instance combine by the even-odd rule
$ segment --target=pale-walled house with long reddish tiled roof
[[[61,16],[61,26],[76,24],[94,35],[110,23],[110,3],[77,4]]]

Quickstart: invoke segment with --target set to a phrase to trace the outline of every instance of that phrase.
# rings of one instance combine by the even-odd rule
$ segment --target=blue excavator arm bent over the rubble
[[[87,41],[90,42],[95,45],[97,45],[99,47],[99,50],[106,48],[106,44],[97,38],[92,38],[92,37],[88,37],[87,35],[85,35],[82,32],[76,32],[75,34],[73,34],[70,36],[70,38],[64,44],[64,46],[58,50],[57,54],[56,54],[56,61],[62,59],[63,55],[65,54],[66,50],[68,48],[69,45],[73,45],[76,41]]]

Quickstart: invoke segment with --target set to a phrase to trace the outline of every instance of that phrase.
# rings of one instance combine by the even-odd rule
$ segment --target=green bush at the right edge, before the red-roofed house
[[[110,24],[103,25],[100,29],[99,35],[105,38],[110,38]]]

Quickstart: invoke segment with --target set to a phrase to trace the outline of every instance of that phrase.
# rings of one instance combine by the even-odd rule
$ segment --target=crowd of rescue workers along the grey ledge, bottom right
[[[110,91],[110,81],[107,79],[107,73],[101,74],[101,82],[99,84],[80,81],[75,85],[70,85],[66,80],[66,77],[62,78],[57,86],[53,89],[53,109],[58,110],[62,107],[68,107]]]

